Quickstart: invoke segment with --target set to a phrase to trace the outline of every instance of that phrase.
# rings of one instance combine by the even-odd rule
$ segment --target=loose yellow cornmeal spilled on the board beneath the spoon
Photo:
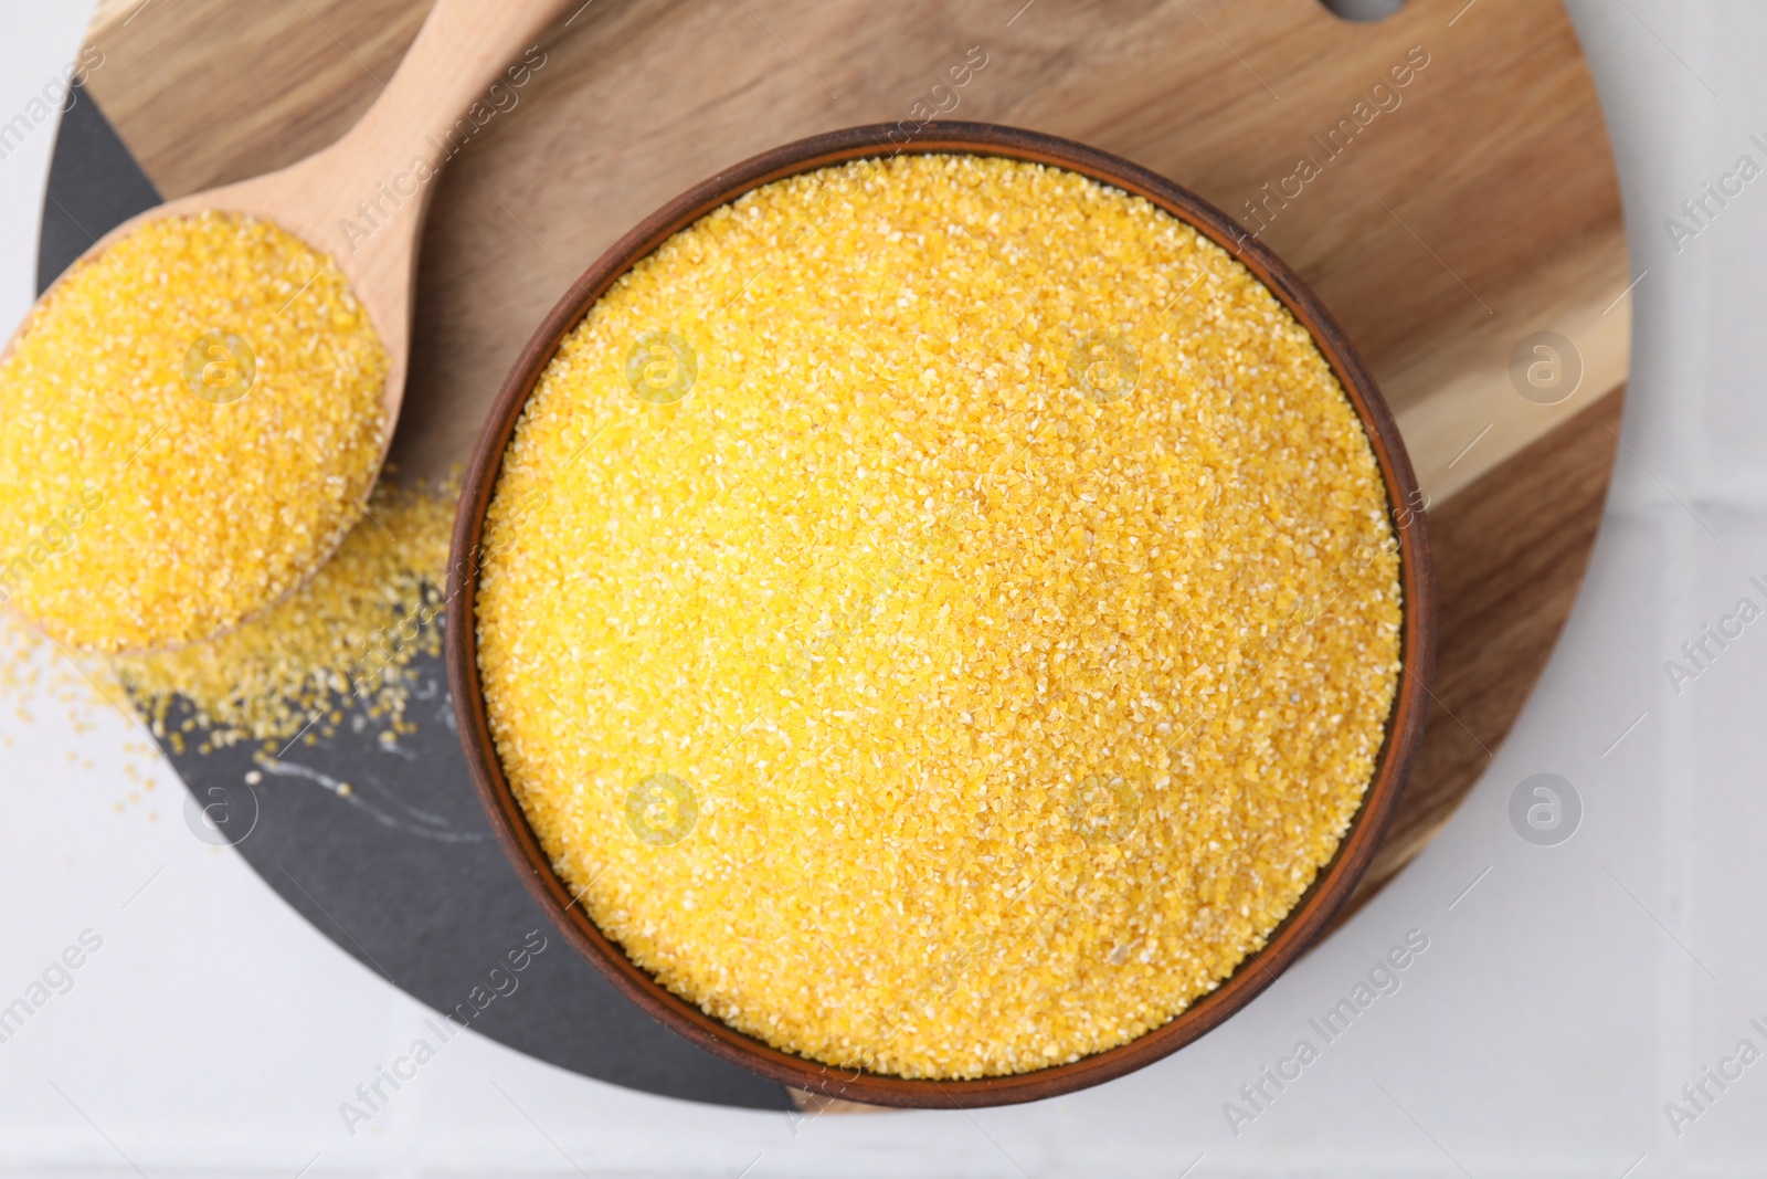
[[[311,582],[269,612],[178,650],[117,656],[110,670],[155,735],[201,730],[212,744],[336,732],[355,702],[403,721],[419,654],[442,647],[454,497],[375,488],[364,516]],[[178,705],[184,705],[182,709]]]

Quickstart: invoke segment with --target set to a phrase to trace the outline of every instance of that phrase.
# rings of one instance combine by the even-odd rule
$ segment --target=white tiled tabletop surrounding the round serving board
[[[74,51],[80,9],[0,5],[0,111]],[[1679,255],[1661,224],[1751,150],[1749,133],[1767,138],[1767,9],[1571,11],[1606,104],[1633,272],[1649,272],[1631,304],[1631,454],[1583,597],[1449,829],[1228,1027],[1062,1101],[795,1128],[588,1082],[466,1032],[352,1138],[337,1103],[428,1011],[230,852],[191,840],[170,771],[154,790],[131,785],[125,764],[148,762],[125,748],[140,744],[125,721],[95,714],[95,732],[76,734],[60,705],[32,700],[37,719],[23,725],[11,693],[0,1002],[81,930],[104,944],[0,1045],[0,1168],[293,1175],[316,1156],[309,1175],[737,1175],[751,1163],[756,1177],[1179,1175],[1202,1156],[1198,1179],[1767,1170],[1767,1059],[1710,1089],[1679,1137],[1663,1108],[1737,1039],[1767,1050],[1748,1025],[1767,1025],[1767,619],[1680,695],[1663,670],[1739,596],[1767,606],[1748,585],[1767,582],[1767,179]],[[30,295],[51,138],[0,161],[7,323]],[[1557,847],[1509,824],[1511,792],[1536,772],[1564,776],[1583,802]],[[1414,928],[1430,947],[1401,988],[1235,1137],[1223,1105],[1240,1101],[1239,1085]]]

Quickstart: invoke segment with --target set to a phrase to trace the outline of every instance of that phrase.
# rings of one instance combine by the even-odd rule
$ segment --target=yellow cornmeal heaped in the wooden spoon
[[[237,399],[228,336],[256,368]],[[57,283],[0,362],[0,597],[97,652],[274,603],[360,514],[385,378],[329,256],[253,217],[145,223]]]

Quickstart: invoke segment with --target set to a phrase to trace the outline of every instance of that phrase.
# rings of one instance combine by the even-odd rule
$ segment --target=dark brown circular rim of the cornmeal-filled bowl
[[[899,136],[908,138],[899,141]],[[516,421],[564,336],[640,258],[719,205],[790,175],[852,159],[896,154],[1004,156],[1066,168],[1143,196],[1225,247],[1256,274],[1311,332],[1368,431],[1387,490],[1389,509],[1399,525],[1396,534],[1399,537],[1399,580],[1405,601],[1401,626],[1405,670],[1387,721],[1385,739],[1376,755],[1375,774],[1331,863],[1320,870],[1308,891],[1295,901],[1293,910],[1269,935],[1263,949],[1248,955],[1216,990],[1196,999],[1161,1027],[1080,1061],[1009,1076],[903,1078],[820,1064],[740,1032],[666,990],[595,926],[553,871],[551,861],[504,778],[491,742],[479,682],[475,590],[484,514]],[[1410,506],[1421,502],[1417,477],[1399,438],[1398,424],[1343,329],[1285,262],[1200,196],[1147,168],[1083,143],[997,124],[938,120],[924,126],[875,124],[809,136],[726,168],[645,217],[565,290],[504,380],[466,467],[449,559],[444,642],[461,746],[491,829],[535,903],[546,910],[565,940],[613,986],[691,1043],[779,1084],[871,1105],[979,1108],[1074,1092],[1152,1064],[1207,1034],[1251,1002],[1318,939],[1368,870],[1417,757],[1430,704],[1428,684],[1435,654],[1430,541],[1422,527],[1422,513],[1408,511]]]

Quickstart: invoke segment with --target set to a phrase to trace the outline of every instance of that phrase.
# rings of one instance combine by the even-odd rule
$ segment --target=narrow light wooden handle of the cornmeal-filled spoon
[[[581,0],[436,0],[380,99],[323,154],[334,170],[348,161],[341,171],[359,171],[359,186],[415,171],[428,191],[428,177],[479,127],[514,108],[546,60],[537,35],[573,4]]]

